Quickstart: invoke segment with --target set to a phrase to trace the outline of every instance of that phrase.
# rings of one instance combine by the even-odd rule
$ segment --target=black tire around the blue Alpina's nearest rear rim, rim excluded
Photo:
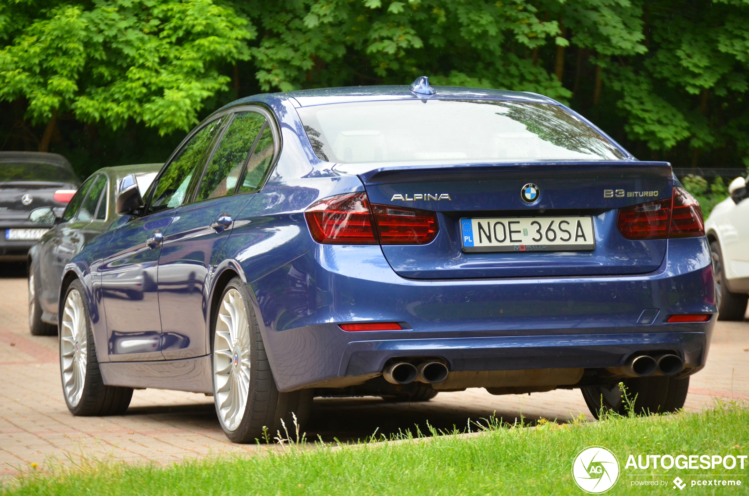
[[[213,399],[216,403],[216,415],[219,417],[219,423],[227,438],[233,443],[253,443],[255,440],[265,441],[265,435],[268,435],[270,441],[280,434],[286,438],[287,432],[292,441],[296,441],[296,426],[294,426],[294,415],[297,417],[297,426],[299,427],[300,436],[309,419],[312,410],[312,395],[314,390],[297,390],[288,393],[281,393],[276,387],[276,381],[273,379],[273,372],[270,370],[267,354],[263,344],[263,338],[260,333],[255,311],[252,308],[252,299],[247,291],[246,285],[239,277],[234,277],[228,282],[221,298],[218,300],[219,305],[224,296],[231,289],[239,292],[243,299],[246,309],[247,322],[249,323],[249,348],[250,363],[249,369],[249,388],[247,393],[247,402],[242,420],[233,431],[228,430],[221,420],[221,413],[218,405],[218,395],[216,394],[216,377],[213,376]],[[216,331],[216,321],[219,318],[219,312],[213,315],[211,323],[210,351],[213,362],[213,334]],[[213,366],[211,367],[213,370]],[[285,429],[281,420],[285,423]],[[263,429],[263,428],[266,429]]]

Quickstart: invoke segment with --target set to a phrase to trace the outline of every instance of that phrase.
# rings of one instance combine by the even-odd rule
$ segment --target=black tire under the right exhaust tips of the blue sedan
[[[664,414],[679,410],[684,406],[689,389],[689,378],[674,379],[664,376],[628,378],[622,380],[627,397],[634,400],[634,413],[637,415]],[[583,398],[593,417],[598,418],[601,408],[619,415],[628,414],[619,384],[612,388],[582,387]],[[601,399],[603,403],[601,403]]]

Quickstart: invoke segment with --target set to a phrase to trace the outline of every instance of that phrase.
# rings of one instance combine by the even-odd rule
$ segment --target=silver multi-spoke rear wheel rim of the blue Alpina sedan
[[[249,396],[249,322],[242,295],[234,288],[224,294],[213,335],[213,394],[224,428],[239,427]]]

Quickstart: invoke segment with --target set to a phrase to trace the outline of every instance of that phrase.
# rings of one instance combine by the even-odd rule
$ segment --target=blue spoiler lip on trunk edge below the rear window
[[[671,179],[673,171],[668,162],[640,160],[554,160],[495,163],[345,163],[333,167],[337,172],[355,174],[364,184],[389,184],[424,181],[455,181],[461,179],[545,177],[583,178],[650,178]]]

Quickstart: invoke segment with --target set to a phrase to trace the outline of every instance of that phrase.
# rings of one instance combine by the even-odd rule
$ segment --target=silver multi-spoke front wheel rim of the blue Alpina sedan
[[[67,294],[60,327],[60,368],[68,405],[81,401],[88,366],[88,329],[83,299],[78,290]]]

